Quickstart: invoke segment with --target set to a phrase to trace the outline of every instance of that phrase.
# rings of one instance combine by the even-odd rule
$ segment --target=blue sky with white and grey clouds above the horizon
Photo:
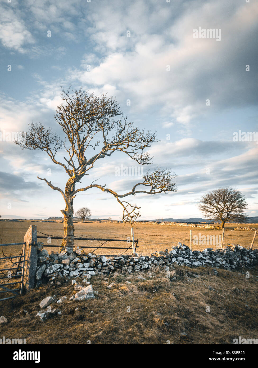
[[[205,38],[206,29],[218,32]],[[61,194],[37,175],[64,189],[67,174],[9,139],[32,121],[62,133],[53,118],[61,85],[115,96],[128,120],[159,140],[148,167],[117,154],[82,185],[99,179],[123,194],[159,165],[176,173],[177,191],[127,197],[141,220],[203,217],[202,195],[224,186],[243,192],[247,215],[258,216],[257,34],[255,0],[0,1],[2,217],[62,216]],[[136,175],[124,174],[132,166]],[[74,210],[82,206],[95,218],[122,216],[96,188],[77,195]]]

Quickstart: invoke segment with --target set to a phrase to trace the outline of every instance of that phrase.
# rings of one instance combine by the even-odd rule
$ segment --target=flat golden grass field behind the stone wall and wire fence
[[[62,236],[63,234],[63,223],[44,223],[44,222],[31,222],[24,220],[21,222],[9,222],[0,221],[0,242],[6,243],[20,243],[24,240],[24,235],[28,230],[29,226],[33,224],[37,226],[37,230],[53,236]],[[239,244],[243,247],[249,247],[254,236],[254,231],[243,231],[243,230],[232,230],[238,226],[250,226],[250,224],[227,224],[225,229],[224,244]],[[257,227],[255,224],[252,227]],[[134,238],[139,239],[139,247],[137,248],[138,254],[150,254],[154,251],[171,250],[171,247],[175,246],[178,241],[185,245],[190,244],[189,242],[189,230],[192,230],[192,250],[203,250],[205,248],[216,248],[216,244],[194,244],[194,236],[219,236],[222,234],[220,229],[202,229],[202,228],[191,228],[175,225],[152,225],[152,224],[136,224],[134,227]],[[87,238],[116,238],[116,239],[131,239],[131,225],[123,223],[108,223],[108,222],[75,222],[74,223],[75,236],[87,237]],[[200,235],[199,235],[200,234]],[[47,245],[47,239],[39,239]],[[85,245],[92,248],[86,248],[85,252],[94,251],[103,241],[94,240],[75,240],[75,245]],[[61,240],[52,239],[51,245],[61,245]],[[107,242],[103,246],[107,247],[127,247],[127,243],[124,242]],[[128,245],[130,246],[130,244]],[[47,248],[47,250],[57,250],[58,248]],[[258,236],[255,239],[253,248],[258,248]],[[10,246],[4,247],[5,254],[14,254],[21,250],[21,246]],[[95,250],[96,254],[121,254],[124,250],[107,250],[100,249]],[[126,251],[126,254],[130,254],[131,251]]]

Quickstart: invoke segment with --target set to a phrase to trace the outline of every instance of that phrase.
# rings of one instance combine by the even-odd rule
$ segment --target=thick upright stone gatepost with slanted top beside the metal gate
[[[38,263],[37,245],[37,227],[31,225],[24,236],[25,258],[24,258],[24,277],[23,285],[26,290],[35,287],[36,268]]]

